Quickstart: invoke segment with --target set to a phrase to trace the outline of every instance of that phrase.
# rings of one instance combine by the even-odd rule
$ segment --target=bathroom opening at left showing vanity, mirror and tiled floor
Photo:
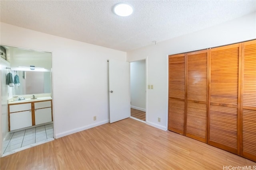
[[[2,53],[0,157],[54,140],[52,53],[1,45]]]

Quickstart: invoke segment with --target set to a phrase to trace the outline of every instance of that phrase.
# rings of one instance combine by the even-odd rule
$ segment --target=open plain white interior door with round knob
[[[109,109],[110,123],[130,116],[129,97],[130,63],[109,61]]]

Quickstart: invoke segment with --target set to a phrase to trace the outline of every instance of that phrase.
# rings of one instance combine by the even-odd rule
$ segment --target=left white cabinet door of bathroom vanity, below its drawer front
[[[10,113],[10,130],[32,126],[32,114],[29,111]]]

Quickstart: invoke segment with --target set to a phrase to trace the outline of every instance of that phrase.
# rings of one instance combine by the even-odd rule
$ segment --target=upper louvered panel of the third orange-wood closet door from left
[[[210,101],[238,104],[239,46],[211,50]]]

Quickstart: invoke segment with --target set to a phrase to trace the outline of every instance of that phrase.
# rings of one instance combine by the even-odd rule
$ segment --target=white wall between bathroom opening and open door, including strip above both
[[[52,52],[57,138],[109,121],[107,59],[126,61],[126,52],[6,23],[0,28],[2,45]]]

